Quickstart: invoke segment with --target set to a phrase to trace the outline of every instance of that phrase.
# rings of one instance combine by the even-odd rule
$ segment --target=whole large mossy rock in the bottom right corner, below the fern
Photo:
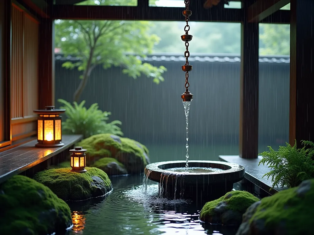
[[[236,235],[313,234],[314,179],[250,206]]]

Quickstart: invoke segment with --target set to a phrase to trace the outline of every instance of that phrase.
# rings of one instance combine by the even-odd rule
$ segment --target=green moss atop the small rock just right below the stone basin
[[[232,196],[229,196],[230,194],[232,194]],[[214,201],[207,202],[201,210],[200,220],[208,221],[208,217],[215,214],[214,209],[220,202],[225,202],[228,209],[244,214],[246,209],[256,201],[259,201],[259,199],[246,191],[228,192],[225,196],[222,196]]]

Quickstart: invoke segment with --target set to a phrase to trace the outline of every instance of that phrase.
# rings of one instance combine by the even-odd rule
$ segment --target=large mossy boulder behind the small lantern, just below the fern
[[[82,140],[79,143],[86,152],[87,165],[95,161],[111,157],[121,162],[128,173],[143,172],[149,164],[149,151],[139,142],[112,134],[97,134]]]

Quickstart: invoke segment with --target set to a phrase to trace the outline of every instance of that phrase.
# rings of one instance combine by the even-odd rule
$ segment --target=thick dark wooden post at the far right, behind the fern
[[[314,1],[291,0],[289,143],[314,141]]]

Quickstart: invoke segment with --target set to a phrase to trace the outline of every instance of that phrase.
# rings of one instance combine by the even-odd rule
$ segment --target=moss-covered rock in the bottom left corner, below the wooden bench
[[[52,234],[72,225],[67,203],[48,187],[15,175],[0,185],[1,234]]]

